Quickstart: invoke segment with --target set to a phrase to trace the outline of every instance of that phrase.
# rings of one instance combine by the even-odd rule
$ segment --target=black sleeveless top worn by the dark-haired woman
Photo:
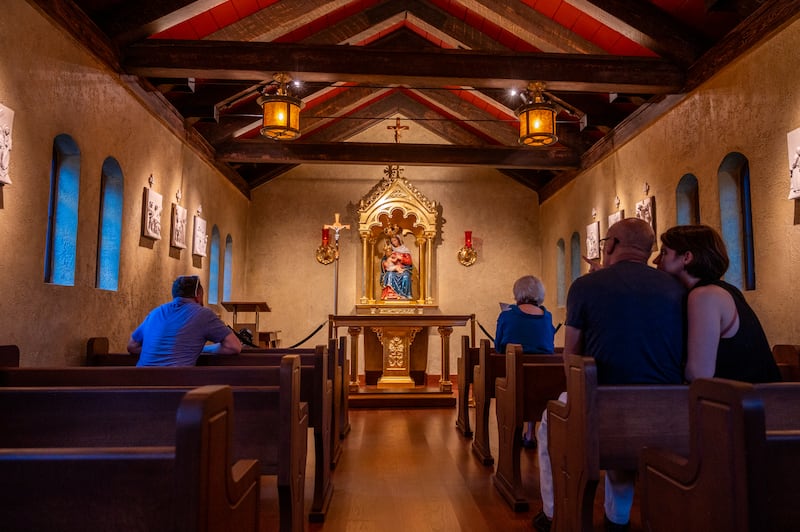
[[[697,286],[703,284],[719,286],[728,292],[739,314],[739,330],[736,334],[719,339],[714,377],[751,383],[780,381],[781,373],[772,356],[767,336],[744,295],[725,281],[698,283]]]

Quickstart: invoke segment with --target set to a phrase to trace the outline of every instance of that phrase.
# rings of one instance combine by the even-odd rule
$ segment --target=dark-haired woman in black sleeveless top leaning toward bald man
[[[707,225],[672,227],[661,235],[661,252],[653,262],[689,289],[687,381],[699,377],[781,380],[758,317],[739,289],[722,280],[729,260],[716,230]]]

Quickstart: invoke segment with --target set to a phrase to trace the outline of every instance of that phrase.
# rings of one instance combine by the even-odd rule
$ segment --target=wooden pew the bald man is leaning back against
[[[553,530],[589,532],[601,470],[638,469],[644,447],[687,451],[689,388],[598,386],[593,358],[569,355],[566,364],[567,403],[547,404]]]

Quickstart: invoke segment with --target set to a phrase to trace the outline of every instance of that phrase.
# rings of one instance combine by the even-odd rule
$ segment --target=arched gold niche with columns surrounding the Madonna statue
[[[401,175],[402,171],[399,166],[386,167],[385,177],[359,202],[362,259],[361,289],[356,304],[359,312],[422,314],[425,307],[436,306],[431,291],[433,240],[438,222],[436,202],[423,196]],[[410,300],[381,299],[380,260],[388,238],[386,229],[392,227],[402,232],[405,245],[412,250],[414,274]]]

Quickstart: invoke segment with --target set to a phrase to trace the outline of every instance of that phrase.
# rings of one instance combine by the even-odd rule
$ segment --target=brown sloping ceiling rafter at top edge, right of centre
[[[458,4],[486,17],[523,41],[549,53],[605,53],[599,46],[542,15],[523,2],[508,0],[457,0]]]

